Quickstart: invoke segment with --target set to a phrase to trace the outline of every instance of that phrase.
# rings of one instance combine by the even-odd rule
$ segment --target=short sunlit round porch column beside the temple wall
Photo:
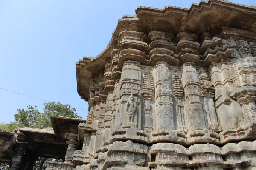
[[[68,147],[65,155],[65,163],[72,163],[72,156],[79,145],[79,142],[77,142],[77,134],[65,133],[65,137],[68,140],[66,141]]]

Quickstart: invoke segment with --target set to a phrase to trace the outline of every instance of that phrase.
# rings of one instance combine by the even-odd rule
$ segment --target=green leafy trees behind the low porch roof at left
[[[14,115],[15,121],[9,123],[0,122],[0,130],[13,132],[17,127],[32,127],[32,128],[46,128],[52,127],[50,116],[64,116],[72,118],[81,118],[77,115],[76,109],[71,108],[70,105],[63,105],[60,102],[48,102],[44,103],[43,112],[38,111],[37,107],[31,105],[27,106],[27,109],[17,109],[18,113]],[[52,159],[46,159],[39,157],[35,162],[34,170],[42,170],[46,168],[46,162],[52,161]],[[55,159],[55,161],[61,161]],[[0,164],[0,167],[8,166],[6,164]]]

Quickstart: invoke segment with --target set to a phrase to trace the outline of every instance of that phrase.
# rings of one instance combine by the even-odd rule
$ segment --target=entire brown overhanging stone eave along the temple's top
[[[255,40],[256,37],[254,36],[256,34],[256,8],[254,6],[245,6],[224,0],[201,0],[198,4],[192,3],[188,9],[174,6],[165,6],[163,9],[139,6],[135,12],[136,16],[123,16],[122,19],[119,19],[110,42],[98,56],[84,57],[76,63],[77,91],[85,101],[89,101],[90,98],[90,78],[93,74],[104,74],[105,64],[110,63],[111,51],[119,50],[119,34],[122,31],[137,31],[145,34],[150,31],[163,31],[170,34],[171,37],[183,31],[200,36],[202,32],[206,31],[213,37],[220,37],[221,35],[225,37],[229,33],[224,30],[229,27],[228,30],[232,29],[230,33],[232,36],[239,32],[239,34],[241,33],[240,36],[246,37],[248,41]],[[147,32],[144,28],[147,28]],[[234,33],[234,30],[237,32]],[[149,37],[144,39],[145,43],[150,43]],[[175,41],[178,43],[177,39]],[[218,58],[223,56],[229,58],[229,53],[229,51],[223,51],[222,53],[211,54],[204,64],[208,65],[212,59],[217,58],[219,60]],[[179,54],[174,55],[177,58]],[[218,62],[217,60],[214,62]],[[147,61],[145,60],[145,62]],[[119,71],[120,68],[115,70]]]

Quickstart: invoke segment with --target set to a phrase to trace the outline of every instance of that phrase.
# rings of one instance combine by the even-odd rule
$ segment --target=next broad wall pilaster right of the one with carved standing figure
[[[157,130],[176,130],[170,72],[163,61],[155,66],[155,105]]]

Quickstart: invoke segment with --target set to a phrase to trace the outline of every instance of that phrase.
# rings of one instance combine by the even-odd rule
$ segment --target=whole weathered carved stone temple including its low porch
[[[137,7],[76,76],[87,119],[1,131],[12,170],[256,170],[256,6]]]

